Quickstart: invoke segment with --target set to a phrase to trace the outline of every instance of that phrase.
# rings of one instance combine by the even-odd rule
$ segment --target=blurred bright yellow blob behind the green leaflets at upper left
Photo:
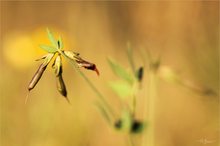
[[[65,34],[59,30],[54,35],[60,35],[64,41],[64,48],[69,48],[69,43]],[[30,33],[14,31],[9,33],[3,40],[3,57],[16,69],[22,70],[33,65],[34,60],[46,54],[39,45],[50,45],[47,37],[46,27],[38,28]]]

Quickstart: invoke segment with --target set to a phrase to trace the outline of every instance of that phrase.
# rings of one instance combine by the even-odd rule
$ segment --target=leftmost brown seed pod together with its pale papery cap
[[[28,85],[28,90],[31,91],[38,83],[40,78],[42,77],[45,69],[47,68],[47,65],[53,58],[54,54],[48,54],[46,57],[44,56],[43,59],[44,62],[39,66],[37,72],[34,74],[33,78],[31,79],[29,85]]]

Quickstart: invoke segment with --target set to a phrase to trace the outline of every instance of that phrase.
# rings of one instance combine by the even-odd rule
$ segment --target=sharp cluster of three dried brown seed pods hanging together
[[[58,41],[58,46],[59,46],[59,41]],[[93,70],[97,73],[97,75],[99,75],[99,71],[96,68],[96,65],[82,59],[79,56],[79,53],[75,53],[73,51],[64,51],[64,50],[62,50],[62,52],[66,57],[68,57],[68,59],[70,59],[71,61],[74,61],[78,67],[84,67],[85,69]],[[32,89],[34,89],[38,81],[41,79],[48,64],[53,60],[54,57],[55,57],[55,60],[53,62],[52,68],[54,69],[54,72],[56,75],[57,90],[62,96],[64,96],[67,99],[67,101],[69,101],[67,98],[66,86],[65,86],[65,83],[62,77],[62,73],[63,73],[62,54],[59,52],[48,53],[42,58],[38,59],[38,60],[43,60],[43,63],[41,63],[38,70],[36,71],[33,78],[31,79],[29,86],[28,86],[28,90],[31,91]]]

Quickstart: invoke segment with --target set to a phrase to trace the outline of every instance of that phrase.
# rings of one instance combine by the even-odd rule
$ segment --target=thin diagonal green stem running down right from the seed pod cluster
[[[95,92],[95,94],[99,97],[99,99],[101,100],[101,102],[106,106],[106,108],[108,109],[108,112],[111,114],[112,117],[115,118],[115,114],[113,112],[113,109],[110,107],[110,105],[108,104],[108,102],[105,100],[105,97],[101,94],[101,92],[99,92],[99,90],[95,87],[95,85],[89,80],[89,78],[78,68],[77,64],[75,63],[75,61],[71,60],[69,57],[67,57],[61,50],[58,49],[58,52],[64,56],[71,65],[73,65],[74,69],[81,75],[81,77],[88,83],[88,85],[90,86],[90,88]]]

